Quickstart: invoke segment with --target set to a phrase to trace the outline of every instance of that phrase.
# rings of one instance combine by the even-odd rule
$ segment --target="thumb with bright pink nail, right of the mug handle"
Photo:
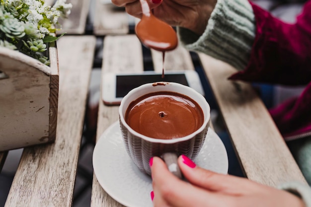
[[[247,194],[256,188],[256,183],[249,183],[245,178],[224,175],[197,166],[185,155],[178,157],[178,165],[184,177],[193,185],[209,191],[230,195]]]

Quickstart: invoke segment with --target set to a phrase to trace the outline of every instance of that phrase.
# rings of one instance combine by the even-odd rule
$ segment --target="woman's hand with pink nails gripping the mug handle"
[[[202,169],[184,155],[178,165],[189,183],[171,174],[160,158],[150,163],[155,207],[304,207],[293,194]]]

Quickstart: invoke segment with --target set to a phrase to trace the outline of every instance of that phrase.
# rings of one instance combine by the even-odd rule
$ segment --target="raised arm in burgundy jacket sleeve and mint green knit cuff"
[[[287,24],[247,0],[218,0],[203,35],[182,27],[178,34],[187,49],[244,69],[231,79],[291,85],[311,80],[311,1],[296,24]]]

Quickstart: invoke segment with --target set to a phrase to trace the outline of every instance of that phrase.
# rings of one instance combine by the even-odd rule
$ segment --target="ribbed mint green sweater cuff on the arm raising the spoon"
[[[248,0],[218,0],[202,36],[177,27],[180,43],[244,69],[255,39],[255,17]]]

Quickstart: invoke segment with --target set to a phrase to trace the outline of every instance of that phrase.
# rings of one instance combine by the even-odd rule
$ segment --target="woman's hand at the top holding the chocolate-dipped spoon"
[[[181,26],[201,35],[217,0],[147,0],[154,15],[172,26]],[[125,6],[135,17],[142,17],[139,0],[112,0],[117,6]]]

